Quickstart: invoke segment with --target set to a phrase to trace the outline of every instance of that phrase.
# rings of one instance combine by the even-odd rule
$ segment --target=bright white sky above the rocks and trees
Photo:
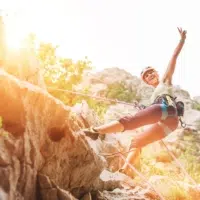
[[[60,45],[59,53],[84,56],[96,70],[120,67],[139,76],[152,65],[164,72],[179,41],[177,26],[187,29],[174,84],[200,96],[200,28],[194,0],[15,0],[1,1],[15,11],[16,34],[33,31]]]

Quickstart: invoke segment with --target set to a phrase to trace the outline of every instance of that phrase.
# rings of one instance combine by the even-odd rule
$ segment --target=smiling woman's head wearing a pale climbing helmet
[[[153,68],[147,68],[142,74],[142,79],[148,85],[156,87],[159,84],[159,75]]]

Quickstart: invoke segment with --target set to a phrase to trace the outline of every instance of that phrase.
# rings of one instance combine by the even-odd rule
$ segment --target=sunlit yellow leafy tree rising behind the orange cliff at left
[[[76,62],[58,57],[57,48],[58,46],[51,43],[40,43],[38,59],[44,69],[44,80],[49,93],[65,104],[73,106],[79,98],[70,91],[75,91],[75,86],[82,81],[83,73],[92,69],[91,62],[87,57]]]

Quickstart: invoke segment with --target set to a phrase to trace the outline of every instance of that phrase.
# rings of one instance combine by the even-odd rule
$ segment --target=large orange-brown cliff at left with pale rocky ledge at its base
[[[0,96],[0,199],[157,197],[123,174],[103,172],[98,144],[80,131],[83,119],[46,90],[1,69]]]

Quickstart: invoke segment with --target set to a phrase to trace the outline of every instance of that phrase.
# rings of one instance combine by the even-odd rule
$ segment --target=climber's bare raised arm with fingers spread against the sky
[[[171,60],[169,61],[169,64],[167,66],[167,70],[162,78],[162,81],[164,83],[168,83],[168,84],[172,84],[172,76],[174,74],[174,70],[176,67],[176,60],[178,58],[179,53],[181,52],[183,45],[185,43],[185,39],[186,39],[186,30],[182,30],[182,28],[178,28],[178,31],[180,33],[181,39],[177,45],[177,47],[174,50],[174,53],[172,55]]]

